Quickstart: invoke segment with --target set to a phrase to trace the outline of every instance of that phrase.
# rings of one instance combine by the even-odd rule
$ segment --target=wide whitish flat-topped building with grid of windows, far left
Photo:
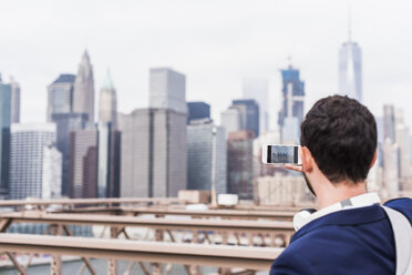
[[[44,185],[50,184],[49,177],[43,177],[44,170],[51,169],[44,165],[44,149],[54,142],[55,125],[52,123],[11,125],[10,198],[43,196]],[[52,167],[61,169],[61,163]]]

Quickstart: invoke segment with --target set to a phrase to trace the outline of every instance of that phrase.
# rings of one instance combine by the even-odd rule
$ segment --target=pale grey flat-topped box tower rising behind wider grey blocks
[[[187,113],[186,77],[168,68],[151,69],[150,108]]]

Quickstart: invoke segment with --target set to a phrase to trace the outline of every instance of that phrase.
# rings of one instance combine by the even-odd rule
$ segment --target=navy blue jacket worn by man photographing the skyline
[[[412,221],[412,200],[385,203]],[[274,262],[270,275],[395,274],[391,224],[378,205],[344,210],[319,217],[291,238]]]

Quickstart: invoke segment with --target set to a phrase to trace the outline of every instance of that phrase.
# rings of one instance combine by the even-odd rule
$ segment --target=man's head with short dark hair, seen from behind
[[[328,96],[307,113],[300,142],[307,176],[316,166],[332,184],[363,183],[375,160],[377,123],[358,101]]]

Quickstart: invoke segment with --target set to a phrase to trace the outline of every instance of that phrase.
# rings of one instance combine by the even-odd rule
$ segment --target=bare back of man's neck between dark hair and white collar
[[[317,192],[317,201],[319,210],[329,205],[342,202],[352,196],[367,193],[365,182],[340,182],[336,184],[323,184],[321,190]]]

